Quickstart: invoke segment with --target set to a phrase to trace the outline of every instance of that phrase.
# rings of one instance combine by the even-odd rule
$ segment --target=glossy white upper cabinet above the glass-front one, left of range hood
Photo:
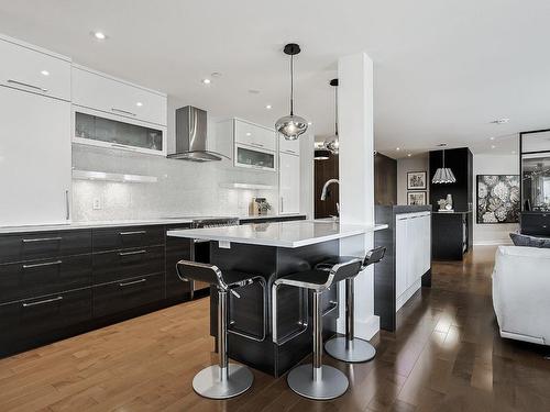
[[[73,104],[166,126],[166,94],[73,66]]]

